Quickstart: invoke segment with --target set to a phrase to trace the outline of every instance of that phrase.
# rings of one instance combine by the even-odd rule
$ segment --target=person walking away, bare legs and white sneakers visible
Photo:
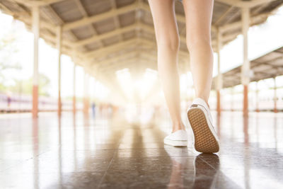
[[[211,23],[213,0],[184,0],[187,49],[195,84],[195,100],[187,110],[187,117],[195,135],[195,149],[200,152],[219,151],[208,98],[212,86],[213,54]],[[173,130],[164,143],[174,147],[187,146],[187,132],[180,113],[180,82],[178,75],[179,36],[174,0],[149,0],[154,18],[158,47],[158,72],[166,103],[173,122]]]

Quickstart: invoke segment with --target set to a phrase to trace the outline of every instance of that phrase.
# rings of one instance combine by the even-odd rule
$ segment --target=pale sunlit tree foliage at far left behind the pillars
[[[11,91],[13,93],[31,94],[33,91],[33,78],[19,79],[21,64],[18,62],[18,42],[21,38],[21,30],[18,27],[3,28],[4,33],[0,35],[0,91]],[[21,62],[21,60],[19,60]],[[7,84],[9,83],[9,84]],[[44,74],[39,75],[39,94],[49,96],[48,88],[50,79]]]

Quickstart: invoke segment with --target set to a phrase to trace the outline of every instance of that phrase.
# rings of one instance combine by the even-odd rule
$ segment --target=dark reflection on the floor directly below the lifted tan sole
[[[216,154],[200,154],[195,159],[195,184],[193,188],[214,188],[219,171]]]

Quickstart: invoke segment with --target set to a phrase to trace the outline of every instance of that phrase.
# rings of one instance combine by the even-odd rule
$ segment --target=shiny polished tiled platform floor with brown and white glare
[[[283,188],[282,113],[214,114],[218,154],[164,146],[168,116],[132,120],[1,115],[0,188]]]

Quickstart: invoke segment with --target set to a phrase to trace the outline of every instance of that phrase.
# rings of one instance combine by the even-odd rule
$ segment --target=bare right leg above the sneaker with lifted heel
[[[210,36],[213,0],[184,0],[183,6],[195,94],[197,98],[202,98],[208,104],[213,67]]]

